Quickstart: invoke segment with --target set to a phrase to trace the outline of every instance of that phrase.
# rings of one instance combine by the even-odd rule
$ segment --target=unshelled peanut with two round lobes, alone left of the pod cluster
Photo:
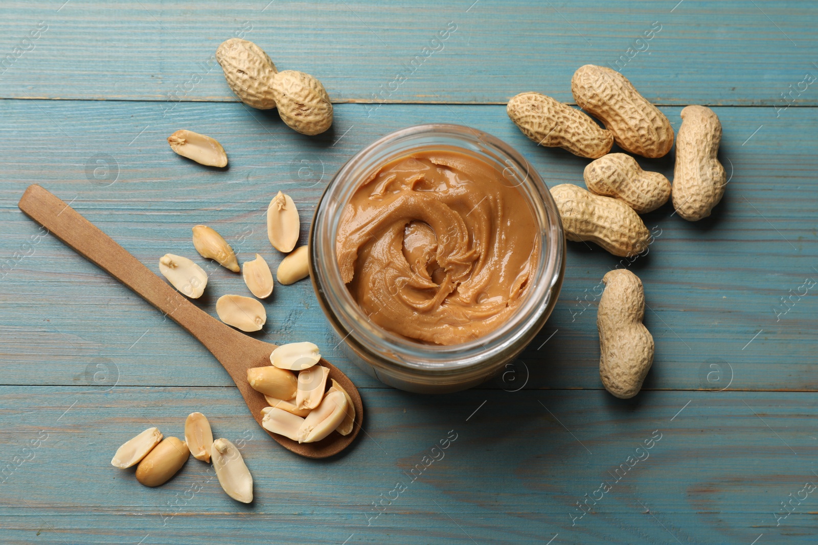
[[[332,102],[321,82],[296,70],[278,72],[267,53],[253,42],[239,38],[222,42],[216,60],[227,84],[246,105],[277,107],[288,127],[310,136],[332,125]]]

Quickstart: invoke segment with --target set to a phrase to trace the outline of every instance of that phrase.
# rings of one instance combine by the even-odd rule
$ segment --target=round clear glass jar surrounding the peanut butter
[[[515,186],[539,226],[540,256],[522,304],[506,324],[483,337],[450,346],[412,341],[372,323],[341,279],[335,252],[344,204],[377,168],[411,153],[452,147],[478,155]],[[407,127],[366,146],[333,177],[312,217],[309,263],[312,285],[339,344],[351,360],[381,382],[406,391],[444,393],[476,386],[514,360],[551,315],[562,284],[565,243],[554,199],[537,172],[505,142],[470,127]]]

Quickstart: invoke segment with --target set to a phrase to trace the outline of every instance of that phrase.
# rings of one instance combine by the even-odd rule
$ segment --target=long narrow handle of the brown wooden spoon
[[[219,361],[224,361],[222,357],[229,356],[229,341],[236,340],[234,337],[243,337],[235,329],[222,324],[188,301],[125,248],[115,243],[114,239],[40,185],[29,185],[18,206],[57,239],[170,316],[205,345]]]

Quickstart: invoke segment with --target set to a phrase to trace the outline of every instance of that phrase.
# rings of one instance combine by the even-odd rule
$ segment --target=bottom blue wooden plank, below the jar
[[[815,543],[815,492],[778,518],[818,481],[811,393],[362,395],[366,434],[315,462],[270,440],[235,388],[0,387],[3,543]],[[243,440],[252,505],[193,458],[156,489],[110,466],[130,436],[179,435],[195,410]],[[585,494],[601,499],[578,518]]]

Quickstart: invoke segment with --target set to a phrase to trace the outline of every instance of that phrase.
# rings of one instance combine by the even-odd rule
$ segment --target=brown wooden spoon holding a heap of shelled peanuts
[[[241,395],[245,398],[250,414],[261,426],[261,409],[267,407],[267,401],[264,400],[261,393],[249,386],[247,369],[269,365],[270,354],[276,345],[248,337],[201,310],[166,284],[164,280],[153,274],[125,248],[97,229],[97,226],[80,216],[74,208],[43,187],[36,184],[29,185],[18,206],[27,216],[49,230],[56,238],[61,239],[75,252],[101,267],[128,288],[133,289],[137,295],[169,315],[177,324],[185,328],[187,333],[205,345],[205,348],[216,356],[224,369],[227,369],[227,373],[230,373],[230,377],[233,382],[236,382]],[[315,443],[299,444],[285,436],[264,430],[285,449],[307,458],[326,458],[344,450],[355,440],[363,422],[361,395],[353,382],[328,361],[321,360],[320,364],[330,369],[330,378],[335,378],[341,386],[344,386],[344,390],[353,400],[355,405],[353,431],[348,436],[342,436],[337,431],[333,431],[329,436]]]

